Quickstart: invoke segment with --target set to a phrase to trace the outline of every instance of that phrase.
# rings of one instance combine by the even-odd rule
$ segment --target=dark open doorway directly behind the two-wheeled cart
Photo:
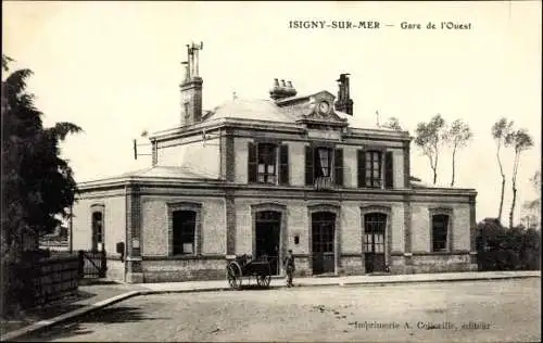
[[[281,214],[275,211],[256,213],[255,252],[256,259],[267,259],[272,275],[279,275],[279,244]]]

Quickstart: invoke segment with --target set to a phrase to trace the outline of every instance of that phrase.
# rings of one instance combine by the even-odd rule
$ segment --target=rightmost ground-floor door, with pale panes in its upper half
[[[370,213],[364,216],[366,272],[384,271],[384,232],[387,215]]]

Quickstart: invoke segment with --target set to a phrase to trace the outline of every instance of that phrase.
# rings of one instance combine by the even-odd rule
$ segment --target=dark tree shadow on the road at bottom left
[[[88,329],[88,327],[94,327],[92,326],[92,323],[110,325],[110,323],[140,322],[140,321],[157,320],[157,319],[168,319],[168,318],[149,317],[139,307],[129,307],[129,306],[105,307],[100,310],[79,317],[77,319],[70,320],[66,322],[61,322],[53,327],[36,331],[26,336],[22,336],[16,341],[42,342],[53,339],[75,340],[76,336],[78,335],[92,333],[93,330]]]

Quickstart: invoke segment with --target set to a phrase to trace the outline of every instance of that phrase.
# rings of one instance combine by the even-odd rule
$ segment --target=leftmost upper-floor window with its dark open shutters
[[[278,145],[275,143],[249,143],[248,160],[249,182],[270,185],[289,183],[288,145]]]

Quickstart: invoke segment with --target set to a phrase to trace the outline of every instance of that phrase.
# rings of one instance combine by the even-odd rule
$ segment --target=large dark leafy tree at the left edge
[[[9,71],[12,59],[2,55]],[[81,131],[72,123],[45,128],[42,113],[26,91],[30,69],[17,69],[2,80],[2,259],[21,262],[36,250],[39,236],[67,218],[77,192],[72,168],[60,157],[59,142]]]

